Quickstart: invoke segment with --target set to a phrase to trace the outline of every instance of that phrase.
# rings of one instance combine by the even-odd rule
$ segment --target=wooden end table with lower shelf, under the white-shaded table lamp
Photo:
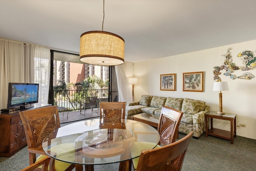
[[[236,137],[236,114],[235,113],[225,113],[224,115],[217,114],[217,111],[210,111],[205,115],[205,136],[212,135],[215,137],[220,137],[223,139],[228,139],[231,144],[234,144],[234,137]],[[210,129],[208,129],[208,118],[210,118]],[[230,131],[214,128],[212,125],[212,118],[222,119],[230,121]]]

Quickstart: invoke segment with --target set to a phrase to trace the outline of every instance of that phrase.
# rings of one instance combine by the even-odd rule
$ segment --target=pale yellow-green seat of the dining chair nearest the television
[[[70,151],[70,153],[74,153],[74,144],[73,143],[66,143],[66,144],[60,144],[60,145],[56,145],[55,147],[51,148],[51,151],[54,151],[56,153],[56,155],[61,155],[63,152],[66,153],[66,151]],[[70,157],[74,158],[74,155],[70,155]],[[44,158],[46,158],[48,156],[46,155],[40,155],[37,159],[37,161],[40,161]],[[75,160],[75,159],[74,159]],[[71,164],[67,163],[67,162],[63,162],[63,161],[59,161],[59,160],[55,160],[55,168],[56,171],[64,171],[66,170]],[[42,165],[38,168],[42,168]],[[49,166],[48,166],[48,170],[49,170]]]

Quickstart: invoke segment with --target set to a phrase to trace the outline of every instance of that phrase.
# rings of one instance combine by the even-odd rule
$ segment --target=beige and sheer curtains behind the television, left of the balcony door
[[[38,68],[40,65],[37,65],[37,58],[48,60],[48,63],[46,65],[48,72],[46,72],[45,68]],[[37,77],[36,80],[36,73],[34,72],[34,68],[36,68],[36,70],[43,70],[43,74],[46,74],[47,76],[43,76],[42,74],[42,80],[39,77]],[[42,91],[42,94],[47,94],[46,100],[45,95],[43,96],[43,98],[39,97],[39,101],[43,101],[40,103],[45,103],[45,101],[48,101],[50,81],[49,77],[50,49],[40,48],[39,46],[28,45],[22,42],[0,38],[0,109],[7,107],[9,82],[35,82],[42,85],[42,83],[40,83],[42,81],[44,84],[48,84],[47,86],[43,86],[40,90]],[[48,81],[43,80],[43,78],[48,78]],[[47,89],[45,89],[45,87],[47,87]]]

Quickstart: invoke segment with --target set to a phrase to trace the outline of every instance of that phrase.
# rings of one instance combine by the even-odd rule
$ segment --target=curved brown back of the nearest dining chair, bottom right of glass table
[[[181,171],[193,133],[169,145],[142,151],[136,171]]]

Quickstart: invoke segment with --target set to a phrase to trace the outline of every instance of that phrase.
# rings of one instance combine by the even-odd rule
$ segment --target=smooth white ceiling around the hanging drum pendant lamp
[[[0,38],[79,54],[103,0],[0,0]],[[256,39],[256,0],[105,0],[104,31],[141,62]]]

